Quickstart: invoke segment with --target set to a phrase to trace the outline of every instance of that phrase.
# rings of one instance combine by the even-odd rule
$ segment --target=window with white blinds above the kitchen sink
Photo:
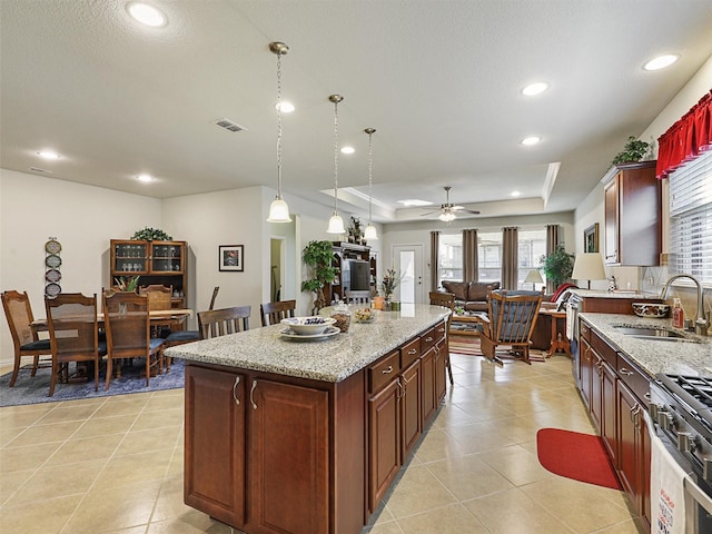
[[[712,284],[712,151],[670,175],[671,275]]]

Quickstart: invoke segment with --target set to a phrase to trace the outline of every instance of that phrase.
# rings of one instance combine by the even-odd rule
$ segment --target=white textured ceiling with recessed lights
[[[395,201],[439,205],[444,186],[483,216],[571,210],[712,56],[709,0],[152,3],[164,29],[139,27],[118,0],[0,2],[3,168],[159,198],[274,188],[268,43],[280,40],[284,98],[297,108],[283,120],[287,201],[333,204],[327,97],[340,93],[339,145],[356,152],[339,156],[339,187],[367,194],[363,130],[377,129],[373,194],[386,208],[375,219],[419,218]],[[681,60],[641,69],[663,52]],[[550,90],[520,93],[537,80]],[[542,142],[520,145],[532,135]],[[38,159],[44,148],[62,158]],[[515,189],[520,200],[497,204]],[[344,192],[342,209],[363,210]]]

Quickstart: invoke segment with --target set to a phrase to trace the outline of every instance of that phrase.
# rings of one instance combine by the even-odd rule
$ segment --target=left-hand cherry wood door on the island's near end
[[[188,506],[224,523],[245,524],[245,376],[186,367]]]

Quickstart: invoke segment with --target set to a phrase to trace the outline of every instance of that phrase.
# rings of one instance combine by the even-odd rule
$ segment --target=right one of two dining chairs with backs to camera
[[[160,375],[164,367],[164,339],[151,337],[148,297],[135,293],[105,294],[102,307],[108,349],[105,389],[109,389],[111,383],[113,360],[119,360],[117,376],[121,376],[125,358],[145,358],[148,387],[151,370]]]

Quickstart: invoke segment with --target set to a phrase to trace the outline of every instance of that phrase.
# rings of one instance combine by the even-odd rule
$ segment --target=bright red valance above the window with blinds
[[[712,90],[657,138],[657,178],[712,149]]]

